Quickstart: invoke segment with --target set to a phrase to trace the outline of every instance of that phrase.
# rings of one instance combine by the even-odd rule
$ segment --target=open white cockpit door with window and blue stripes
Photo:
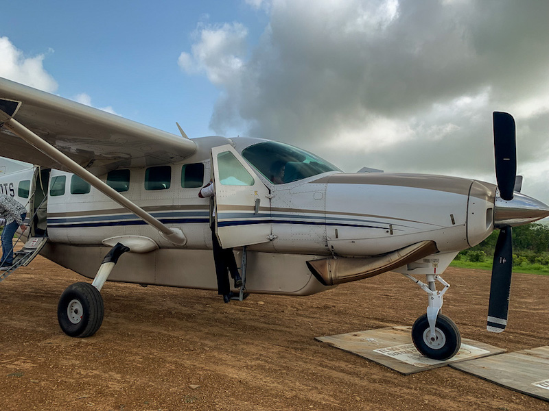
[[[231,145],[211,149],[215,232],[221,247],[267,242],[271,234],[269,190]]]

